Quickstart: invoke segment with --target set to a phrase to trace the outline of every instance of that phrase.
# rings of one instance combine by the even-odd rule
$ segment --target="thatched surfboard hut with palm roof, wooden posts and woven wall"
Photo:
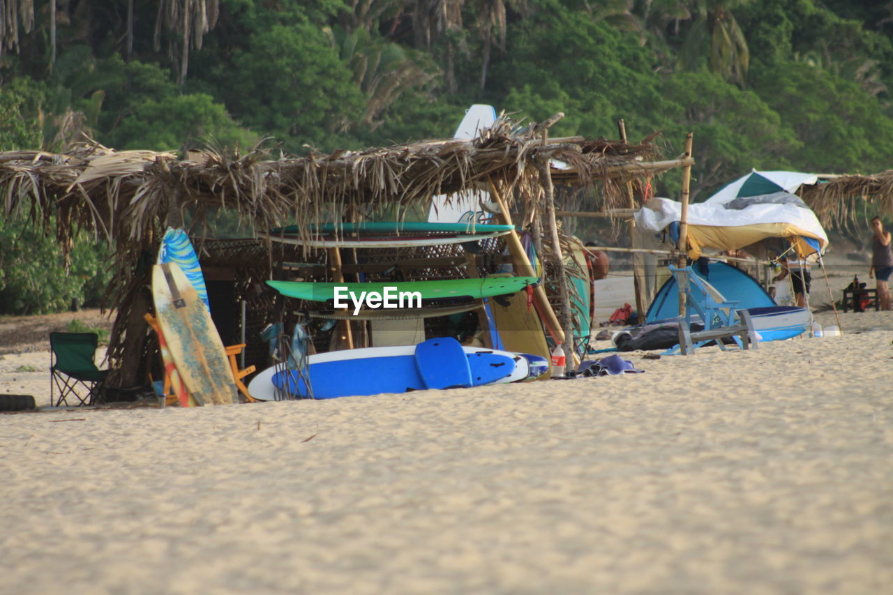
[[[3,153],[2,205],[4,214],[25,214],[34,225],[54,233],[63,250],[71,248],[78,230],[89,230],[113,247],[110,266],[115,275],[106,301],[115,313],[109,384],[132,387],[146,383],[147,360],[155,351],[143,315],[152,309],[146,288],[163,230],[184,222],[200,230],[221,209],[237,214],[246,230],[297,224],[301,233],[309,234],[310,224],[333,216],[359,218],[387,209],[401,217],[414,206],[427,208],[435,195],[484,188],[503,205],[506,220],[515,212],[516,223],[538,231],[538,241],[547,247],[543,253],[551,255],[556,271],[562,272],[554,179],[604,182],[602,195],[614,197],[627,181],[679,163],[657,161],[658,151],[650,142],[549,138],[549,127],[560,117],[526,127],[503,117],[470,141],[430,140],[330,155],[274,155],[269,148],[255,147],[246,155],[209,148],[181,157],[119,152],[95,142],[62,154]],[[555,160],[563,163],[560,170],[550,167]],[[516,271],[523,274],[517,237],[510,234],[506,241]],[[271,278],[276,266],[313,264],[307,249],[258,239],[204,243],[196,238],[196,244],[209,277],[229,281],[232,298],[260,311],[270,305],[256,288]],[[566,329],[565,289],[562,295],[555,318],[561,318]]]

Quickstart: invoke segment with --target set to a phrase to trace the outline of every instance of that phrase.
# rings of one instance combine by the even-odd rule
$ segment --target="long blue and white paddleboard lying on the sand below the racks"
[[[443,342],[446,339],[430,339]],[[456,345],[455,339],[449,339]],[[460,346],[461,347],[461,346]],[[430,365],[443,366],[436,358],[436,350],[423,348],[416,358],[417,346],[407,345],[385,348],[347,349],[310,356],[310,378],[314,398],[335,398],[359,395],[375,395],[383,392],[426,390],[429,387],[421,376],[422,368]],[[522,381],[545,373],[548,362],[543,357],[496,351],[487,348],[463,347],[467,358],[467,370],[471,383],[465,384],[464,366],[454,363],[454,370],[439,373],[438,381],[444,387],[480,386],[490,383]],[[431,357],[435,357],[430,361]],[[258,400],[280,400],[288,381],[285,365],[276,365],[258,373],[248,385],[248,392]],[[451,380],[452,379],[452,380]],[[298,382],[298,390],[303,383]],[[299,392],[298,394],[303,394]]]

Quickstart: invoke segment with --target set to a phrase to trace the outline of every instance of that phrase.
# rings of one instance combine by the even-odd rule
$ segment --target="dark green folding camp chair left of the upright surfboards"
[[[108,370],[100,370],[94,363],[99,337],[95,332],[51,332],[50,348],[50,406],[68,405],[68,398],[78,399],[77,405],[92,405],[99,396]],[[59,398],[54,398],[55,390]],[[86,394],[83,394],[86,391]]]

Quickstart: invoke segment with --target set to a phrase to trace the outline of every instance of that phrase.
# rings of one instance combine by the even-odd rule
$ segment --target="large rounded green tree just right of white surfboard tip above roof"
[[[541,13],[515,25],[507,47],[492,66],[499,106],[536,120],[564,112],[556,135],[615,138],[625,118],[630,138],[642,138],[678,113],[661,94],[647,48],[585,13]]]

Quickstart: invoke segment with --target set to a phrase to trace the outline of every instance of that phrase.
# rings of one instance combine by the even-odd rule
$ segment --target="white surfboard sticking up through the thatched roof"
[[[487,130],[496,121],[497,111],[492,105],[472,105],[465,112],[465,117],[455,130],[453,138],[464,140],[477,138],[481,130]],[[454,195],[438,195],[431,201],[428,222],[485,222],[490,218],[490,214],[480,208],[480,203],[488,202],[489,197],[489,192],[484,190],[465,190]]]

